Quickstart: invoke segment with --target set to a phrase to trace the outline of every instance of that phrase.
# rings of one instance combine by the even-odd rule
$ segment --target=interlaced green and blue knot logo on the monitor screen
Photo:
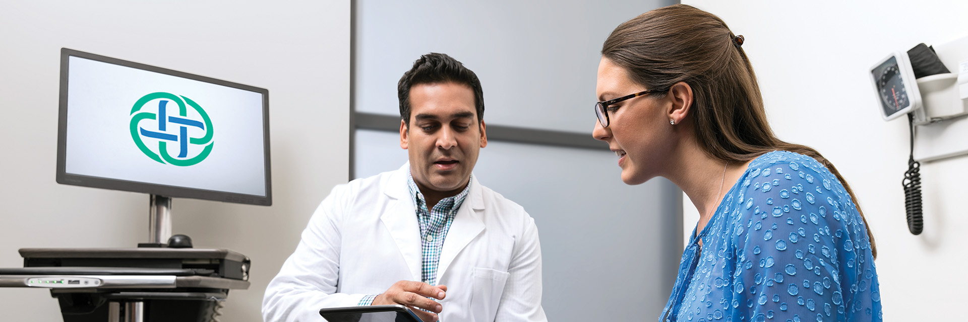
[[[141,108],[148,102],[158,102],[158,112],[141,111]],[[178,115],[168,115],[168,103],[174,102],[178,105]],[[186,106],[187,105],[187,106]],[[201,120],[188,117],[188,106],[200,116]],[[157,124],[157,131],[145,130],[140,126],[143,120],[157,120],[157,122],[145,122],[149,125]],[[189,128],[198,128],[205,132],[201,137],[189,137]],[[168,132],[177,132],[168,133]],[[131,108],[131,138],[135,140],[137,148],[151,160],[178,166],[195,165],[208,158],[212,152],[212,120],[208,113],[198,105],[197,102],[189,100],[184,96],[176,96],[170,93],[158,92],[141,97]],[[152,150],[144,144],[144,137],[158,139],[158,150]],[[178,155],[172,157],[168,154],[168,142],[178,144]],[[189,157],[189,144],[203,145],[201,152],[196,156]]]

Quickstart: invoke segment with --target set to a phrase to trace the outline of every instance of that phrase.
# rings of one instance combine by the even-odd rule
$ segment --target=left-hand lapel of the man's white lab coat
[[[407,189],[407,171],[409,163],[390,176],[383,186],[383,192],[394,199],[387,203],[383,216],[379,218],[393,236],[397,248],[404,256],[412,280],[421,280],[420,266],[420,223],[417,222],[416,206]]]

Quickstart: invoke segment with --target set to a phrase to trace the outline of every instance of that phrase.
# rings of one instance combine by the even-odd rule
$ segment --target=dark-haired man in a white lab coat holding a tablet
[[[409,162],[332,190],[266,288],[263,317],[400,304],[427,322],[546,321],[534,220],[471,175],[487,145],[477,75],[430,53],[397,91]]]

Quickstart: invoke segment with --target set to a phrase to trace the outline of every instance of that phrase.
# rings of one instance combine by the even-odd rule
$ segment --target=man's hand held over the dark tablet
[[[401,280],[393,283],[386,292],[373,299],[372,306],[404,305],[410,308],[423,308],[428,311],[413,309],[413,312],[426,322],[438,320],[437,314],[443,309],[439,303],[428,298],[443,300],[446,296],[447,286],[413,281]]]

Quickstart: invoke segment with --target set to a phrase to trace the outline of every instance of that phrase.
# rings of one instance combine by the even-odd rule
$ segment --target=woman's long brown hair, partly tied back
[[[602,56],[650,89],[662,92],[678,82],[692,87],[689,115],[699,145],[713,159],[745,162],[781,150],[827,166],[854,200],[876,258],[874,236],[857,196],[833,163],[817,150],[784,142],[773,133],[756,74],[741,44],[718,16],[673,5],[620,24],[602,45]]]

